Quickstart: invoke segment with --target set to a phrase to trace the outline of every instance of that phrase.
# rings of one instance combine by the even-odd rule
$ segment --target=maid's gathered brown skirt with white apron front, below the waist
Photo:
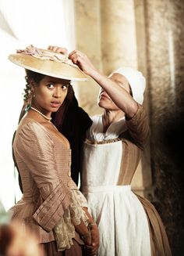
[[[88,186],[83,194],[100,232],[98,256],[171,256],[154,205],[131,186]]]

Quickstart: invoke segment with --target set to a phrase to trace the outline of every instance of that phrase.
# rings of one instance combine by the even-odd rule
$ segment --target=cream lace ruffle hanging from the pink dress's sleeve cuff
[[[57,225],[55,225],[55,236],[58,251],[69,249],[73,245],[73,238],[75,237],[75,227],[73,223],[79,225],[83,221],[86,225],[89,224],[83,207],[87,207],[87,200],[79,190],[72,190],[72,203],[69,208],[65,210],[64,215]]]

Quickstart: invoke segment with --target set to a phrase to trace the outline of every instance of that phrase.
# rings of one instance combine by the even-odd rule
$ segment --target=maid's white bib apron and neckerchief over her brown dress
[[[122,118],[103,133],[102,117],[93,124],[84,142],[81,190],[100,233],[99,256],[150,256],[150,232],[143,205],[131,186],[116,186],[122,164],[123,143],[117,139],[126,131]]]

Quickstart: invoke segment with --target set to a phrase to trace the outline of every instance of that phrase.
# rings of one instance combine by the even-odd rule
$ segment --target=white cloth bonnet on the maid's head
[[[143,103],[143,93],[146,88],[146,80],[143,77],[143,74],[140,71],[133,69],[132,67],[119,67],[118,70],[115,70],[112,74],[119,73],[122,74],[127,81],[133,92],[133,99],[137,103]]]

